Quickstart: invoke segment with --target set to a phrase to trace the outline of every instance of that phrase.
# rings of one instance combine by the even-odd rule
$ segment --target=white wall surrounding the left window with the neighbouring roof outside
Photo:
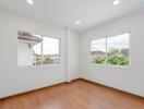
[[[61,38],[60,64],[19,68],[17,66],[17,32],[19,31],[34,33],[43,36],[60,37]],[[67,36],[64,28],[55,27],[48,25],[47,23],[43,23],[34,19],[28,19],[22,15],[16,15],[14,13],[0,11],[0,61],[1,61],[0,62],[0,98],[13,94],[19,94],[22,92],[27,92],[31,89],[65,82],[67,78],[65,76],[67,45],[65,44],[67,44]]]

